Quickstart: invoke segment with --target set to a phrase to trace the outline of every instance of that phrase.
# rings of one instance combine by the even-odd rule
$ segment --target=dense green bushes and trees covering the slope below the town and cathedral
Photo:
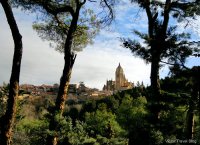
[[[63,116],[55,117],[58,144],[156,145],[176,141],[178,145],[182,141],[188,144],[189,139],[200,144],[199,94],[194,96],[193,92],[200,81],[195,71],[198,74],[199,67],[174,71],[160,81],[162,107],[157,124],[152,123],[149,111],[152,109],[150,88],[140,84],[99,100],[68,100]],[[48,129],[54,99],[46,96],[19,100],[14,145],[43,145],[46,136],[55,133]],[[188,138],[191,102],[192,137]]]

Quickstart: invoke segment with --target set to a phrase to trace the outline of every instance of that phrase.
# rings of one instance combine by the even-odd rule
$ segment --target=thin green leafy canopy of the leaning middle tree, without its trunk
[[[73,34],[73,51],[81,51],[87,44],[92,43],[92,39],[99,29],[110,25],[114,19],[113,6],[116,0],[15,0],[15,7],[22,7],[25,10],[36,12],[39,19],[33,25],[43,40],[50,41],[50,46],[63,52],[65,39],[68,34],[70,23],[76,9],[76,2],[83,5],[80,9],[79,20],[76,32]],[[91,4],[90,4],[91,3]],[[99,3],[98,13],[92,8],[93,4]],[[88,8],[88,5],[91,5]],[[97,4],[96,4],[97,5]]]

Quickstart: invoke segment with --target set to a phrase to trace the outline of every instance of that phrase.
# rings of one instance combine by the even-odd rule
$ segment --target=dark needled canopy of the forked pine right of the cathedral
[[[167,59],[168,64],[180,64],[185,63],[188,56],[198,54],[199,52],[199,41],[191,39],[189,33],[177,32],[177,26],[169,24],[170,17],[176,17],[184,20],[186,16],[195,16],[198,14],[199,6],[196,6],[199,1],[186,2],[182,1],[134,1],[146,10],[148,17],[148,34],[141,33],[134,30],[134,34],[139,36],[143,43],[137,40],[129,38],[123,38],[123,45],[129,48],[135,56],[139,56],[144,59],[147,63],[151,62],[153,46],[157,47],[155,51],[160,54],[160,62]],[[165,6],[169,2],[168,12]],[[187,11],[190,11],[187,12]],[[194,11],[195,10],[195,11]],[[193,12],[193,13],[192,13]],[[166,13],[166,15],[164,15]],[[168,19],[168,20],[167,20]],[[166,21],[166,22],[165,22]]]

